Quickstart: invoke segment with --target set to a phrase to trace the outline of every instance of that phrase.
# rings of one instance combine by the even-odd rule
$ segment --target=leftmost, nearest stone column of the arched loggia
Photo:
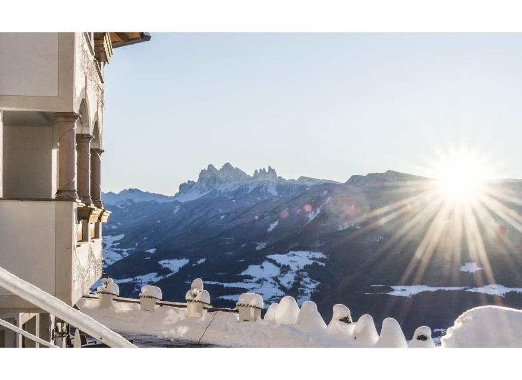
[[[76,112],[56,112],[58,122],[58,191],[57,199],[77,200],[76,192],[76,121],[80,115]]]

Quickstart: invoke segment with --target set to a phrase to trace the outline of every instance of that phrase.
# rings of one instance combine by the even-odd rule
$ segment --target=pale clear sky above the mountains
[[[520,34],[151,34],[104,71],[104,191],[173,195],[226,162],[436,176],[455,152],[522,178]]]

